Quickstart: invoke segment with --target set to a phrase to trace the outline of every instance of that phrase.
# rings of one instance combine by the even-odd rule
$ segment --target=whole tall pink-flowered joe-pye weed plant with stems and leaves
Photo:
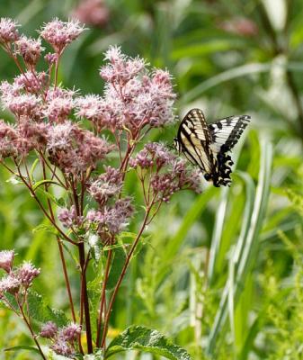
[[[58,67],[67,45],[84,27],[74,20],[55,19],[42,26],[38,39],[21,35],[18,28],[11,19],[0,21],[1,47],[20,72],[13,82],[0,86],[3,107],[14,118],[13,123],[0,122],[1,165],[12,174],[12,185],[26,186],[29,199],[38,203],[49,221],[48,230],[58,243],[69,311],[54,311],[41,300],[43,294],[31,285],[43,266],[39,269],[31,262],[13,266],[13,249],[0,252],[1,302],[24,321],[35,343],[32,350],[43,359],[57,355],[81,359],[87,354],[92,355],[89,359],[101,359],[133,348],[189,359],[185,350],[156,330],[141,326],[126,329],[110,344],[107,341],[120,284],[147,225],[174,193],[200,192],[198,172],[164,144],[147,142],[149,130],[174,119],[171,76],[111,47],[100,70],[105,82],[102,96],[81,95],[58,83]],[[42,40],[50,52],[44,56],[45,70],[38,71],[45,51]],[[125,189],[131,172],[137,175],[143,203]],[[137,232],[129,233],[134,214],[141,220]],[[76,262],[78,296],[71,291],[73,269],[67,268],[67,256]],[[115,257],[122,263],[116,269]],[[109,284],[110,278],[114,284]],[[90,299],[88,282],[94,284],[97,304]]]

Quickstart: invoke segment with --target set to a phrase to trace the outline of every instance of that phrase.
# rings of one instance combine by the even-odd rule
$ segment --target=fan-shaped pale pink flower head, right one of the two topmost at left
[[[78,20],[72,19],[65,23],[56,18],[43,26],[40,35],[60,54],[84,30]]]

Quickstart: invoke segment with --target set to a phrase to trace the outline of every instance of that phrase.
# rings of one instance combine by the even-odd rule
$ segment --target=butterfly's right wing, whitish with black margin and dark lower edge
[[[230,174],[233,161],[227,155],[228,151],[236,145],[245,130],[250,116],[229,116],[209,124],[209,133],[211,136],[210,148],[214,157],[217,157],[218,164],[218,185],[230,184]]]

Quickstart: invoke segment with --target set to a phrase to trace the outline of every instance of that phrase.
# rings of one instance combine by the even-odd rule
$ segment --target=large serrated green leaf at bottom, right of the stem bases
[[[182,347],[174,345],[158,331],[142,326],[131,326],[114,338],[106,349],[105,359],[128,350],[140,350],[171,360],[191,360]]]

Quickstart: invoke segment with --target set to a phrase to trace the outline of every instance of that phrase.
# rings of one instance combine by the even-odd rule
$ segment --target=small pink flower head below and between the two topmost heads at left
[[[22,37],[16,41],[16,50],[26,64],[35,66],[44,48],[41,47],[40,39],[35,40],[22,35]]]

